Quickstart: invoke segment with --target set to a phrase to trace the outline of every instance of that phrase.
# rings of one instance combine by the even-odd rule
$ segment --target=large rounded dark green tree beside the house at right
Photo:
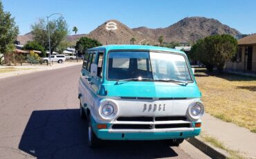
[[[212,35],[205,37],[192,46],[191,56],[203,63],[208,71],[216,67],[219,72],[228,59],[237,51],[237,39],[231,35]]]

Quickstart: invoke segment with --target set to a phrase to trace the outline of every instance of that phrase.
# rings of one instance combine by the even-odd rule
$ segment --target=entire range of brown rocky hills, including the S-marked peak
[[[108,28],[108,29],[107,29]],[[134,44],[158,44],[158,37],[164,35],[165,42],[193,42],[203,37],[216,34],[238,35],[239,31],[221,24],[216,19],[208,19],[205,17],[188,17],[181,19],[176,24],[172,24],[167,28],[147,28],[145,26],[139,28],[129,28],[120,21],[109,20],[95,28],[89,34],[69,35],[67,41],[75,44],[80,37],[91,37],[97,39],[102,44],[130,44],[130,39],[134,37]],[[21,44],[33,39],[33,35],[29,32],[26,35],[17,37]]]

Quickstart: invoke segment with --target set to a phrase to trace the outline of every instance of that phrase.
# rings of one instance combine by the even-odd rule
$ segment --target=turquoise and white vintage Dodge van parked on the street
[[[84,55],[78,86],[90,147],[101,140],[170,140],[199,135],[204,106],[188,57],[156,46],[110,45]]]

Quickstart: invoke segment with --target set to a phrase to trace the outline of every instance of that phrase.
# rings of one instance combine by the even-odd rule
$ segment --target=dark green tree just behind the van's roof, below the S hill
[[[94,48],[97,46],[102,46],[99,41],[95,39],[91,39],[89,37],[81,37],[75,45],[75,49],[79,50],[80,53],[83,53],[88,48]]]

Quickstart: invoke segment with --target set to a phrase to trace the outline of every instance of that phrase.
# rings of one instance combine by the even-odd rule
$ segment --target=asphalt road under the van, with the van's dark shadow
[[[89,149],[79,117],[81,66],[0,79],[0,158],[206,158],[185,142],[104,142]]]

